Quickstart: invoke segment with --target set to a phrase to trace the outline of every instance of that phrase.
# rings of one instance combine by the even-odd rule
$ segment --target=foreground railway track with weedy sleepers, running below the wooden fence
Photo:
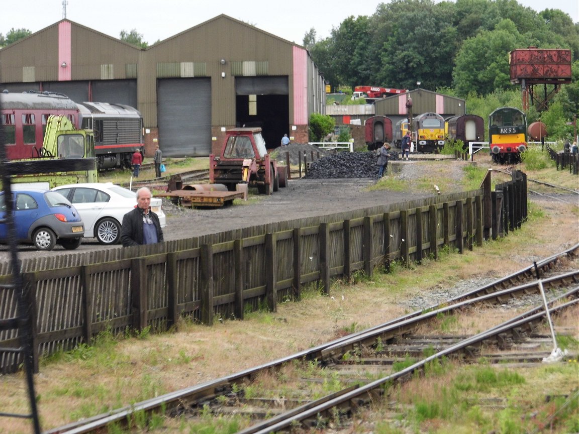
[[[540,300],[541,285],[554,297],[551,306],[556,303],[556,307],[551,307],[552,312],[576,305],[579,270],[555,273],[554,269],[562,256],[574,256],[577,249],[579,244],[448,300],[444,306],[416,311],[283,359],[48,433],[102,432],[112,425],[130,424],[135,414],[159,412],[191,420],[208,412],[243,413],[258,422],[239,431],[240,434],[284,432],[296,426],[325,424],[331,418],[351,417],[358,407],[382,398],[387,385],[408,380],[428,363],[441,358],[475,361],[484,356],[487,360],[512,363],[540,362],[548,355],[544,347],[549,341],[548,337],[533,334],[534,327],[545,315],[540,304],[474,336],[435,336],[419,330],[428,329],[424,324],[448,315],[465,312],[472,315],[472,306],[480,309],[502,305],[521,296]],[[534,279],[535,275],[541,276],[540,281]],[[401,363],[406,366],[398,369],[396,366]]]

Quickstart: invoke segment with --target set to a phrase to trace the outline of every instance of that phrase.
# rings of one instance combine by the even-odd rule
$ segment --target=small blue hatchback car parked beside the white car
[[[16,190],[12,193],[14,227],[18,242],[38,250],[52,250],[58,243],[67,250],[79,247],[85,226],[76,208],[62,194],[50,190]],[[8,241],[6,198],[0,192],[0,242]]]

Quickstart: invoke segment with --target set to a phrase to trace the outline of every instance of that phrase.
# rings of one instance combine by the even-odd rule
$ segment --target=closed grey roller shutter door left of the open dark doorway
[[[159,145],[166,157],[211,153],[211,79],[159,79]]]

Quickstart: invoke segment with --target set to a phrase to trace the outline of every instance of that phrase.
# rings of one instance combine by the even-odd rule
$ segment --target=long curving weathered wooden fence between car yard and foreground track
[[[214,317],[243,319],[244,312],[298,300],[302,287],[349,280],[393,260],[437,259],[446,245],[463,252],[484,238],[502,236],[526,219],[526,179],[490,192],[481,189],[340,214],[246,227],[155,245],[71,253],[22,262],[34,321],[34,365],[39,357],[113,333],[165,330],[179,317],[212,325]],[[492,194],[491,194],[492,193]],[[0,283],[8,281],[6,264]],[[14,292],[0,292],[0,318],[16,310]],[[0,344],[17,344],[0,332]],[[0,372],[21,363],[0,354]]]

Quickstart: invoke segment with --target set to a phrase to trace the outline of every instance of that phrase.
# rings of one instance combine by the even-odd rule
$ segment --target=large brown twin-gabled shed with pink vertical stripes
[[[67,19],[0,50],[0,89],[64,93],[142,113],[148,155],[207,156],[231,127],[307,142],[325,83],[307,50],[220,15],[147,49]]]

